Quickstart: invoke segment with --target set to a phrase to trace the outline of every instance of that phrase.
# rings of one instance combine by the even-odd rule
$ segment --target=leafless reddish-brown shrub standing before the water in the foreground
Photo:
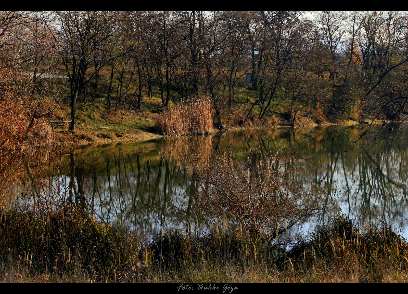
[[[230,150],[215,155],[198,173],[202,183],[198,212],[211,222],[262,230],[276,237],[299,220],[318,212],[313,191],[304,191],[286,168],[282,150],[259,146],[247,159]]]

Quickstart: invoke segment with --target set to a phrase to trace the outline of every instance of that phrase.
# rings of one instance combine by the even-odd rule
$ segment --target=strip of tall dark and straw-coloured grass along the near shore
[[[3,282],[407,282],[407,256],[387,225],[357,230],[342,218],[285,252],[246,230],[146,241],[74,208],[1,212]]]

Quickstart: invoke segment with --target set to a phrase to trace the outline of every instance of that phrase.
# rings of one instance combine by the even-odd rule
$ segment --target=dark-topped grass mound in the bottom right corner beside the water
[[[309,241],[288,252],[295,278],[304,276],[307,281],[407,281],[407,256],[406,239],[390,225],[370,225],[360,231],[343,217],[317,228]],[[323,277],[324,272],[330,274]]]

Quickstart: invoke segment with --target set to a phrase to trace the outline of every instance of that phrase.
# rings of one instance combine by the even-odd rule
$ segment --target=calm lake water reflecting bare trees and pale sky
[[[51,172],[47,180],[60,198],[79,205],[78,196],[84,195],[82,205],[97,218],[145,236],[170,227],[202,232],[208,224],[194,213],[195,182],[183,166],[197,158],[211,160],[225,148],[245,157],[258,145],[273,146],[283,148],[286,166],[297,171],[290,177],[304,189],[317,190],[332,208],[299,222],[296,233],[324,225],[337,211],[360,225],[386,220],[407,236],[407,137],[401,131],[392,140],[362,144],[374,138],[368,134],[355,144],[353,137],[365,129],[251,129],[82,148],[64,154],[59,175]]]

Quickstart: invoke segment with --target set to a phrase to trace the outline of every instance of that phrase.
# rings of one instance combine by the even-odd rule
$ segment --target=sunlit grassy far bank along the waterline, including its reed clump
[[[109,109],[103,98],[95,99],[94,103],[81,106],[77,110],[77,125],[75,133],[69,135],[68,141],[78,144],[108,144],[115,141],[140,141],[148,140],[163,134],[175,133],[195,134],[213,132],[213,114],[208,106],[193,106],[188,109],[169,103],[169,110],[162,111],[162,102],[155,97],[142,97],[141,109],[131,108],[117,110]],[[242,104],[231,109],[221,110],[222,120],[228,129],[242,128],[279,128],[289,126],[284,108],[277,108],[275,114],[259,120],[257,115],[251,114],[246,123],[243,123],[248,105]],[[60,121],[68,121],[70,108],[62,105],[52,113],[49,121],[57,137],[63,139],[67,132],[63,131]],[[351,123],[356,123],[350,121]],[[344,123],[341,119],[328,122],[322,119],[319,113],[313,111],[299,112],[296,126],[318,126],[333,123]],[[67,136],[66,136],[67,137]]]

